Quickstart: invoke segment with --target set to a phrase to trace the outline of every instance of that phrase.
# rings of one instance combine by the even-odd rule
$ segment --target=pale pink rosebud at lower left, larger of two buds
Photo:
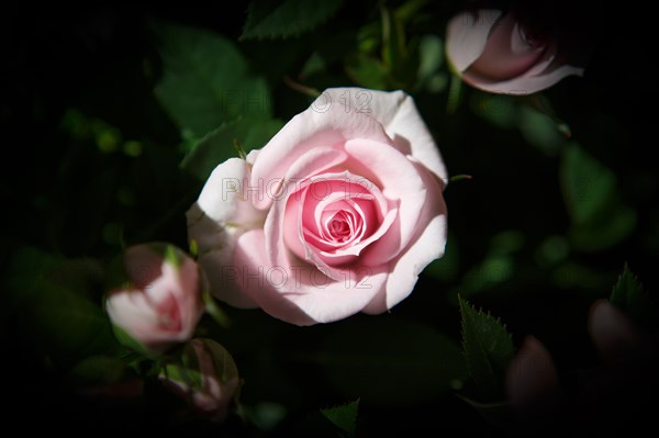
[[[120,340],[161,352],[190,339],[203,313],[194,260],[175,246],[152,243],[127,248],[113,268],[105,308]]]

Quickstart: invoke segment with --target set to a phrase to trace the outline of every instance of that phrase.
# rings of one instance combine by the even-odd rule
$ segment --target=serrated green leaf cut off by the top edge
[[[253,0],[239,40],[298,36],[331,19],[342,4],[343,0]]]

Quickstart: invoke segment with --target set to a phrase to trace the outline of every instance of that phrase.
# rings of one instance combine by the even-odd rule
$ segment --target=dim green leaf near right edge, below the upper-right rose
[[[563,148],[560,179],[577,249],[608,248],[636,226],[636,211],[622,202],[615,173],[576,143]]]

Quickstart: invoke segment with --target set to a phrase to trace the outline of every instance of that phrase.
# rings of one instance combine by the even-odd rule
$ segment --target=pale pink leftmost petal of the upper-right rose
[[[462,74],[483,53],[490,31],[502,12],[481,9],[460,13],[446,27],[446,55],[453,68]]]

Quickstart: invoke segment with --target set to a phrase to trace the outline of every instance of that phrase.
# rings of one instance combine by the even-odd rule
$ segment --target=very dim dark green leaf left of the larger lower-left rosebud
[[[102,278],[97,260],[19,248],[4,284],[20,336],[63,369],[88,356],[114,353],[118,345],[100,304]]]

